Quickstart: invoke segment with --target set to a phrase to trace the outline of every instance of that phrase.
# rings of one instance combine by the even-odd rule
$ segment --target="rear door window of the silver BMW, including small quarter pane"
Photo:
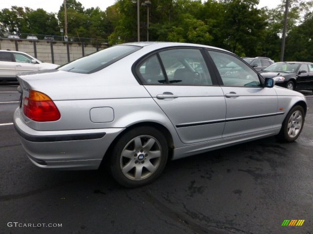
[[[139,65],[147,85],[212,85],[208,67],[199,49],[175,48],[160,51]],[[163,69],[162,69],[162,66]]]

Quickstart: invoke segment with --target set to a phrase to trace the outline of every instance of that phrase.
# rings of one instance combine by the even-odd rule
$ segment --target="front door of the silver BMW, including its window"
[[[223,138],[261,134],[273,128],[278,112],[277,95],[273,88],[264,88],[259,75],[238,57],[221,51],[208,51],[218,68],[221,88],[226,100]],[[229,63],[236,69],[220,72]]]

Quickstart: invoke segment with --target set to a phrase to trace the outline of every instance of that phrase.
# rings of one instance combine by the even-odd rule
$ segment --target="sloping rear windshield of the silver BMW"
[[[59,70],[76,73],[90,74],[109,66],[110,64],[124,58],[127,55],[141,49],[139,46],[119,45],[112,46],[99,52],[87,55],[70,63],[67,63]]]

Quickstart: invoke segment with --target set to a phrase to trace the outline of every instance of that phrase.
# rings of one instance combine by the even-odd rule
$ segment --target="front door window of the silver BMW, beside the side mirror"
[[[237,57],[217,51],[208,53],[219,71],[224,86],[261,86],[258,74]]]

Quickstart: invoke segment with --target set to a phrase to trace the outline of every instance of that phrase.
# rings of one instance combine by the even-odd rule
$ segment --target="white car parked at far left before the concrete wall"
[[[24,52],[0,50],[0,81],[2,82],[16,83],[18,73],[55,69],[58,66],[42,62]]]

